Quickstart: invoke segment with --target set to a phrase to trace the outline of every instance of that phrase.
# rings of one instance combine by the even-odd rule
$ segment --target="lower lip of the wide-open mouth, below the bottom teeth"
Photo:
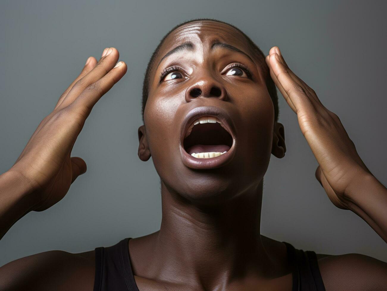
[[[200,170],[219,168],[227,165],[233,159],[235,155],[235,140],[233,140],[231,148],[219,157],[195,158],[184,150],[183,145],[180,145],[180,152],[182,154],[183,164],[189,168]]]

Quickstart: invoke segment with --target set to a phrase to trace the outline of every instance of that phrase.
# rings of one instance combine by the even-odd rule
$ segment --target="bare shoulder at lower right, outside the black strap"
[[[317,254],[326,290],[386,290],[387,263],[361,254]]]

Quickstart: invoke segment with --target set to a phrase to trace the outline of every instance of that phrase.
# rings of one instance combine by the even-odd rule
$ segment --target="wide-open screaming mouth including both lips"
[[[235,147],[235,125],[228,111],[202,106],[188,112],[182,124],[180,144],[182,161],[187,167],[222,167],[235,156]]]

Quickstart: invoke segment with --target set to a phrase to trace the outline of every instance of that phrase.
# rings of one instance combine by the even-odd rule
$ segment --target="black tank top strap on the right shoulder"
[[[325,291],[315,252],[298,250],[293,245],[283,242],[292,265],[292,291]]]

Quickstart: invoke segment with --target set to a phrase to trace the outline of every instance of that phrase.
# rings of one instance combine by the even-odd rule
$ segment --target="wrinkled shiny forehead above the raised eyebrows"
[[[259,59],[247,38],[234,27],[221,22],[200,20],[189,22],[173,30],[159,48],[156,57],[157,63],[165,53],[187,41],[193,43],[195,48],[210,46],[214,41],[220,41],[245,51],[252,58]]]

